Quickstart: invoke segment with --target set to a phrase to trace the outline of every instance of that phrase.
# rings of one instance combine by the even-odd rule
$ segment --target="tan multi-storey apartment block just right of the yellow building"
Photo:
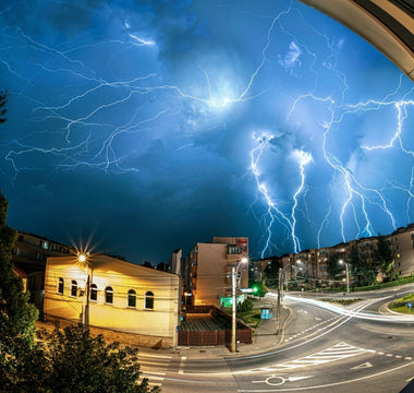
[[[185,258],[184,289],[194,306],[221,307],[231,297],[232,267],[248,258],[248,239],[214,237],[211,242],[197,242]],[[240,265],[238,287],[248,287],[248,264]]]

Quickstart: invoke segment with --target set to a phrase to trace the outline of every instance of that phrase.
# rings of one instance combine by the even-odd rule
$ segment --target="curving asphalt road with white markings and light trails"
[[[385,313],[394,294],[346,294],[363,299],[346,308],[315,294],[287,295],[291,318],[277,348],[220,358],[143,355],[142,367],[167,393],[400,392],[414,378],[414,317]]]

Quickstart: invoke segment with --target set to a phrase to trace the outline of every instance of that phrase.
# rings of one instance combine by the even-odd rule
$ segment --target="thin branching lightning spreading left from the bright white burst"
[[[82,50],[102,45],[118,46],[124,48],[123,50],[130,50],[133,48],[141,50],[144,47],[157,47],[157,43],[155,40],[139,37],[136,33],[132,33],[129,22],[124,22],[124,27],[127,31],[126,36],[129,38],[126,41],[110,39],[97,44],[80,45],[66,50],[61,50],[39,43],[25,34],[22,28],[16,27],[16,34],[13,36],[14,41],[19,41],[19,45],[22,47],[28,48],[35,52],[45,53],[48,58],[54,58],[56,63],[64,64],[63,67],[52,68],[46,63],[44,64],[37,62],[36,67],[38,71],[35,74],[49,73],[51,75],[54,74],[57,78],[60,75],[65,75],[65,78],[72,78],[74,85],[86,85],[88,87],[84,88],[78,94],[70,96],[68,99],[62,97],[63,103],[60,105],[48,106],[40,104],[34,108],[34,121],[45,122],[47,120],[56,120],[65,123],[64,141],[69,146],[62,148],[44,148],[40,146],[31,147],[27,144],[24,146],[19,146],[17,144],[16,146],[21,147],[21,150],[19,152],[15,148],[10,150],[7,155],[7,160],[14,169],[13,178],[15,179],[20,172],[19,164],[15,159],[25,155],[27,156],[28,154],[51,154],[54,156],[61,156],[62,163],[59,164],[59,167],[66,169],[74,169],[77,166],[88,166],[113,172],[136,170],[132,167],[122,167],[122,157],[117,154],[117,150],[113,146],[119,138],[137,133],[148,122],[155,122],[162,116],[169,115],[170,108],[165,107],[156,110],[153,116],[147,116],[145,119],[138,120],[138,117],[142,116],[143,112],[154,111],[154,109],[150,108],[150,104],[154,103],[160,94],[168,94],[170,92],[183,99],[198,103],[211,109],[226,108],[232,104],[244,103],[261,96],[265,93],[264,91],[252,94],[254,81],[266,61],[266,53],[270,44],[271,32],[277,22],[290,12],[291,7],[292,1],[290,2],[288,10],[280,12],[272,19],[268,28],[267,40],[261,51],[261,60],[252,72],[245,87],[239,94],[234,94],[232,92],[230,83],[227,86],[221,85],[220,91],[216,90],[215,92],[209,73],[200,67],[199,70],[204,75],[207,85],[207,94],[205,96],[191,94],[178,85],[153,83],[158,78],[157,73],[148,73],[146,75],[139,75],[124,81],[108,81],[102,76],[98,76],[92,68],[85,64],[84,61],[76,59],[76,55]],[[8,10],[4,10],[3,12],[7,11]],[[26,79],[14,70],[10,62],[4,59],[0,59],[0,61],[5,66],[10,73],[33,85],[33,76]],[[35,85],[33,85],[33,87],[35,87]],[[118,96],[118,98],[107,99],[105,103],[96,105],[90,110],[83,106],[83,103],[86,102],[86,99],[95,99],[100,97],[106,91],[109,90],[111,90],[113,92],[112,95]],[[144,98],[144,102],[142,102],[142,98]],[[97,99],[97,103],[99,100],[100,98]],[[114,124],[113,119],[110,119],[107,122],[102,121],[102,119],[108,117],[109,112],[118,109],[122,110],[122,106],[124,104],[135,100],[141,100],[142,103],[138,105],[136,112],[132,114],[129,119],[126,118],[124,123]],[[73,118],[69,115],[71,112],[84,114]],[[73,141],[76,141],[80,138],[83,138],[83,130],[92,128],[96,130],[94,141],[92,141],[89,139],[90,135],[87,134],[83,142],[72,144],[72,139]],[[98,143],[99,139],[100,143]],[[88,148],[85,150],[85,146]],[[95,150],[95,153],[93,153],[93,150]],[[82,156],[84,156],[84,158],[82,158]]]

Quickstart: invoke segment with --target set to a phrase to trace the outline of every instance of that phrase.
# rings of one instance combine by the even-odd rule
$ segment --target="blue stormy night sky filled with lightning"
[[[296,0],[3,0],[9,225],[136,263],[413,222],[414,86]]]

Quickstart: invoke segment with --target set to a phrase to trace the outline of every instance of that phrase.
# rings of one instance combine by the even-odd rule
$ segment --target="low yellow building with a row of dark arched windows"
[[[135,344],[170,347],[176,345],[179,307],[175,274],[108,255],[90,257],[86,265],[76,257],[47,260],[45,321],[84,322],[106,330],[99,331],[104,335],[123,333]]]

